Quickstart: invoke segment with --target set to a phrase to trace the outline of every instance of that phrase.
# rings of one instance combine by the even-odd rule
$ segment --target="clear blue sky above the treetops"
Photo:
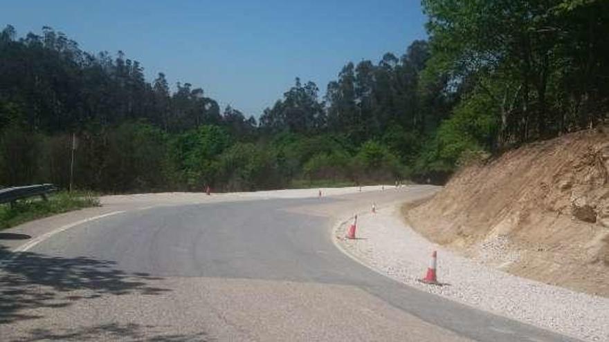
[[[325,94],[347,61],[401,55],[426,37],[418,0],[5,1],[19,37],[51,26],[97,53],[122,50],[152,81],[165,73],[224,108],[258,117],[294,77]]]

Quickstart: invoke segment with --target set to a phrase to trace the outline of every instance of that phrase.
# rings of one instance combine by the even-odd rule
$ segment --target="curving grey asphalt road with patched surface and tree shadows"
[[[575,341],[392,281],[331,242],[338,211],[426,191],[87,222],[1,267],[0,340]]]

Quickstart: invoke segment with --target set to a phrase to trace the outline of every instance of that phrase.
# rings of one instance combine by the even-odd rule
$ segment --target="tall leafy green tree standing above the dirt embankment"
[[[606,115],[598,96],[608,91],[607,82],[588,73],[593,68],[602,75],[609,67],[606,58],[598,59],[608,56],[608,38],[599,34],[608,28],[606,2],[426,0],[423,5],[430,17],[431,65],[449,73],[449,84],[475,79],[502,104],[500,145],[593,126]],[[584,75],[585,81],[579,78]]]

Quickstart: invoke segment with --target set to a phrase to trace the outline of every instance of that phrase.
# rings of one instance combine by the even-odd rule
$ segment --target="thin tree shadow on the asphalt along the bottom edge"
[[[186,342],[186,341],[212,341],[205,333],[197,334],[165,334],[152,325],[138,325],[134,323],[110,323],[81,327],[73,330],[52,332],[46,329],[35,329],[26,339],[19,342],[34,341],[153,341],[153,342]],[[15,341],[15,342],[17,342]]]

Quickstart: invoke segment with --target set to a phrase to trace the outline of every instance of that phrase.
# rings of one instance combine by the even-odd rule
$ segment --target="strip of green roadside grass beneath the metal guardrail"
[[[98,196],[87,192],[61,191],[48,195],[46,201],[40,198],[17,200],[13,207],[8,203],[0,205],[0,230],[56,213],[99,206]]]

